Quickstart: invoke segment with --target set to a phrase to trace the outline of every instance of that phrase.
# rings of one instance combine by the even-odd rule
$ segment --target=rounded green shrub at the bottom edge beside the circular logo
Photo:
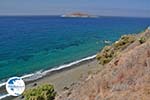
[[[26,90],[23,93],[25,100],[54,100],[56,92],[52,85],[46,84],[37,88]]]

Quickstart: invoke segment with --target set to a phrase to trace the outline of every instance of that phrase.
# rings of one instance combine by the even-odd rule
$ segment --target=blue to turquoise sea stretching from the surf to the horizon
[[[115,41],[149,25],[150,18],[0,17],[0,80],[91,56],[103,40]]]

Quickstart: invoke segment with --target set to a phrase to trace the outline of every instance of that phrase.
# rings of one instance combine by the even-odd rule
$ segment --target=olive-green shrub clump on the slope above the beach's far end
[[[124,35],[111,46],[105,46],[103,50],[97,54],[96,58],[100,64],[105,65],[109,63],[114,57],[116,57],[121,50],[125,49],[135,40],[136,37],[133,35]]]

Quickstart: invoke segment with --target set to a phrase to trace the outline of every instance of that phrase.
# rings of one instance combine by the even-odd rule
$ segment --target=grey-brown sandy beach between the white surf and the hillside
[[[58,71],[48,73],[45,77],[41,79],[26,83],[26,89],[35,88],[44,84],[54,85],[55,91],[60,93],[69,88],[72,85],[88,78],[90,74],[94,74],[101,70],[102,66],[98,64],[97,60],[90,59],[71,67],[67,67]],[[36,86],[35,86],[36,84]],[[13,98],[7,97],[5,100],[20,100],[21,97]]]

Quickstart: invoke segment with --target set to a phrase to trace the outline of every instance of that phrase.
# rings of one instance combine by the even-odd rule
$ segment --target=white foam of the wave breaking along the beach
[[[50,72],[53,72],[53,71],[58,71],[58,70],[61,70],[61,69],[64,69],[64,68],[68,68],[68,67],[76,65],[78,63],[81,63],[83,61],[94,59],[95,57],[96,57],[96,55],[89,56],[89,57],[86,57],[86,58],[83,58],[83,59],[71,62],[69,64],[64,64],[64,65],[61,65],[61,66],[58,66],[58,67],[55,67],[55,68],[52,68],[52,69],[49,69],[49,70],[46,70],[46,71],[43,71],[43,72],[42,71],[38,71],[36,73],[27,74],[27,75],[22,76],[21,78],[24,79],[24,81],[32,81],[32,80],[34,81],[36,79],[39,79],[39,78],[47,75],[47,73],[50,73]],[[1,83],[0,87],[4,86],[5,84],[6,84],[6,82]],[[0,96],[0,99],[6,98],[8,96],[10,96],[10,95],[6,94],[6,95],[3,95],[3,96]]]

